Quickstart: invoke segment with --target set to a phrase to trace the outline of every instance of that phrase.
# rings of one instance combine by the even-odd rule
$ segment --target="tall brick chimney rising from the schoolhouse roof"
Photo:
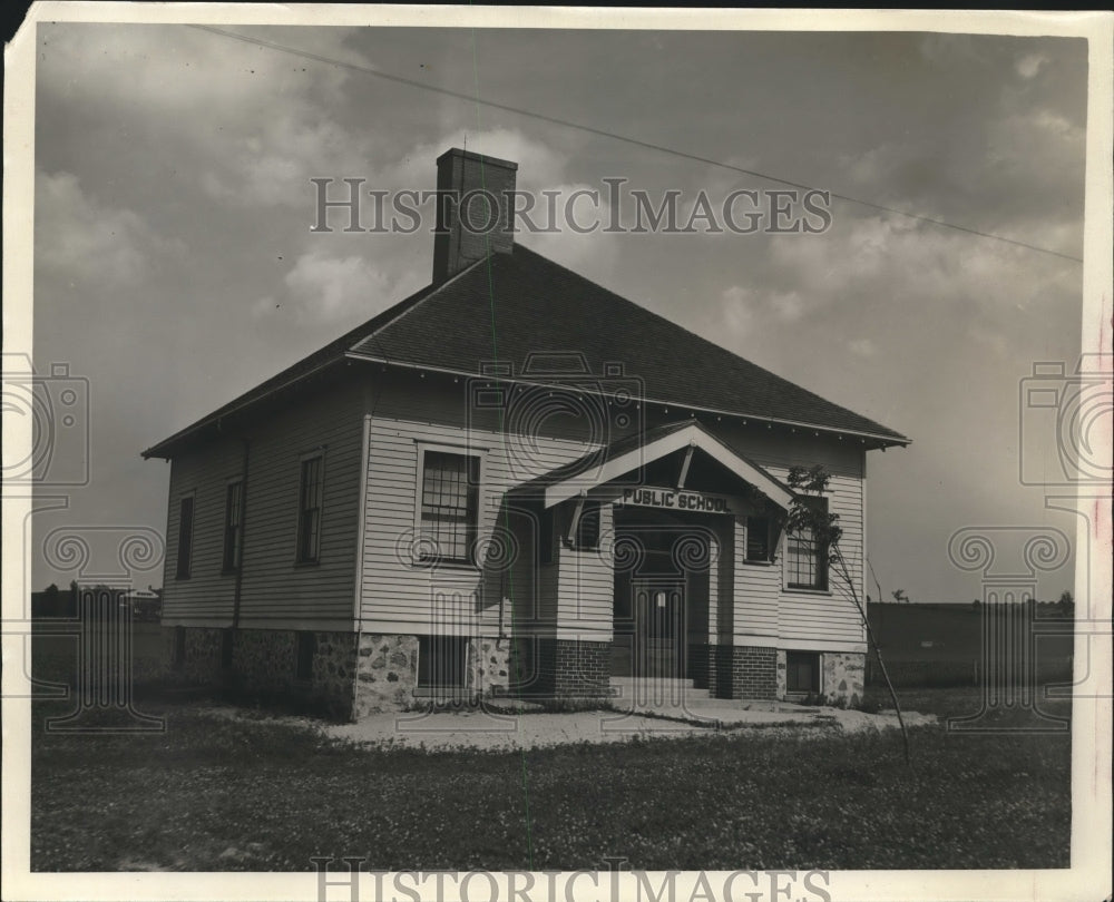
[[[511,252],[515,246],[510,222],[512,195],[508,197],[507,193],[515,190],[517,171],[517,163],[459,147],[437,158],[434,284],[451,278],[489,251]]]

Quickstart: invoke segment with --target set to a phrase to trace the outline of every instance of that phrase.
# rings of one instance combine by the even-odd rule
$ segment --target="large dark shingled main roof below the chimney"
[[[531,359],[553,352],[579,355],[590,373],[566,370],[564,375],[582,388],[586,376],[622,364],[618,381],[629,389],[637,380],[646,402],[858,435],[881,445],[909,443],[899,432],[516,244],[509,253],[491,254],[447,282],[422,288],[147,449],[144,457],[170,457],[179,442],[206,427],[345,357],[461,375],[479,375],[485,363],[498,361],[512,367],[512,378],[530,381]],[[540,374],[546,382],[561,378]],[[614,381],[603,379],[604,389]]]

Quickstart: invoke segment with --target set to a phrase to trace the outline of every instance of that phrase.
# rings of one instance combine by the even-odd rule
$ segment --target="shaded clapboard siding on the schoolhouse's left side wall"
[[[351,629],[355,591],[362,393],[323,392],[250,430],[244,510],[242,627]],[[320,562],[295,561],[304,454],[324,455]],[[222,575],[225,491],[243,469],[238,439],[174,459],[164,619],[232,624],[236,577]],[[176,580],[178,500],[194,491],[194,566]]]

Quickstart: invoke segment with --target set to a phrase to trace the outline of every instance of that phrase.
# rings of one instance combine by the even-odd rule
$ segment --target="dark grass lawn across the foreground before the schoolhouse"
[[[974,690],[902,698],[978,709]],[[32,870],[310,871],[313,855],[365,856],[367,870],[1069,864],[1066,735],[920,727],[910,769],[897,732],[428,754],[143,708],[167,717],[165,734],[46,734],[53,712],[36,706]]]

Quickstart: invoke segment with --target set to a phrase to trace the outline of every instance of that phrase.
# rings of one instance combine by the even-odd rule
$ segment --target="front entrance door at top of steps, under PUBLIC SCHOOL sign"
[[[684,676],[685,582],[632,580],[634,643],[632,676]]]

